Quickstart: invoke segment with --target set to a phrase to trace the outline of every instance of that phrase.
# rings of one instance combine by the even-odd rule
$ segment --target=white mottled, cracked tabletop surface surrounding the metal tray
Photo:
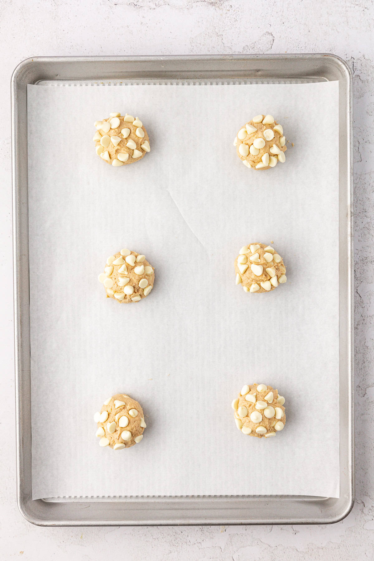
[[[365,0],[0,0],[0,559],[374,559],[374,7]],[[333,526],[40,528],[15,500],[10,77],[30,56],[338,54],[354,76],[356,480]],[[322,148],[316,147],[316,154]],[[328,147],[326,157],[329,157]]]

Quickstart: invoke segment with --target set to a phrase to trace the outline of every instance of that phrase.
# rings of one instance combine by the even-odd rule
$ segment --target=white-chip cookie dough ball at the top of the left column
[[[138,162],[151,150],[147,131],[138,117],[110,113],[108,119],[95,121],[95,127],[96,154],[114,167]]]

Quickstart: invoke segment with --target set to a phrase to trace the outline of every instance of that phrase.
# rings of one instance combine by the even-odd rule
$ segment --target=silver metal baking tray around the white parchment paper
[[[31,387],[27,84],[238,80],[299,83],[339,80],[339,390],[340,498],[294,495],[63,497],[31,495]],[[17,500],[24,517],[43,526],[326,524],[354,502],[352,75],[331,54],[199,57],[38,57],[12,76],[13,257],[17,424]]]

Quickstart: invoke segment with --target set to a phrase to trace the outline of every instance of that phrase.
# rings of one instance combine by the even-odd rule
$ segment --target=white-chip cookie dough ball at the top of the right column
[[[237,154],[247,168],[269,169],[285,162],[283,127],[271,115],[257,115],[239,130],[234,140]]]

